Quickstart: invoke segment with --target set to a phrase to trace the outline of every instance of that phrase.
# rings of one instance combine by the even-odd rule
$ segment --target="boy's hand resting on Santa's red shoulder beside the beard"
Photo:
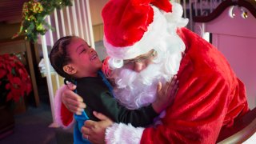
[[[158,96],[152,106],[158,114],[165,110],[167,106],[170,106],[174,101],[175,94],[178,91],[178,79],[175,75],[171,79],[171,82],[166,82],[165,86],[162,83],[158,83]]]

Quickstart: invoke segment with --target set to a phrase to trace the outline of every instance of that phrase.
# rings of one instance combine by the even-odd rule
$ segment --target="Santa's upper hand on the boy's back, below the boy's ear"
[[[66,89],[62,91],[62,102],[70,112],[81,115],[82,110],[86,108],[86,104],[83,102],[82,97],[75,94],[76,86],[72,83],[66,85]]]

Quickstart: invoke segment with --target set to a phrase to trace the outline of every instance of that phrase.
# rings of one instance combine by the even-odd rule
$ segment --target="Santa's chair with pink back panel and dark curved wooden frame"
[[[251,111],[221,130],[219,143],[242,143],[256,135],[256,2],[223,1],[210,15],[194,17],[195,31],[224,54],[246,86]]]

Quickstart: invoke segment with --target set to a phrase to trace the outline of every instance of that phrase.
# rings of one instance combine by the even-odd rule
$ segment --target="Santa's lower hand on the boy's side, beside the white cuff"
[[[105,143],[106,128],[111,126],[114,122],[105,115],[94,111],[94,116],[101,121],[94,122],[87,120],[82,126],[82,137],[87,138],[92,143]]]

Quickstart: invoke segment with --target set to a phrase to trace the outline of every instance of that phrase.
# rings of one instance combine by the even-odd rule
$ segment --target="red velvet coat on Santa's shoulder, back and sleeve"
[[[178,30],[186,51],[178,71],[178,93],[160,126],[143,131],[141,143],[215,143],[249,108],[245,87],[226,58],[186,28]]]

